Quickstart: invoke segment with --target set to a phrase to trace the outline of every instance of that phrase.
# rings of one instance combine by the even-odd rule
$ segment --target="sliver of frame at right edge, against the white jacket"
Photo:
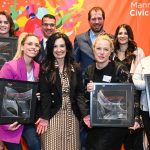
[[[146,87],[146,97],[147,97],[147,103],[148,103],[148,110],[149,110],[149,116],[150,116],[150,74],[144,75],[145,79],[145,87]]]

